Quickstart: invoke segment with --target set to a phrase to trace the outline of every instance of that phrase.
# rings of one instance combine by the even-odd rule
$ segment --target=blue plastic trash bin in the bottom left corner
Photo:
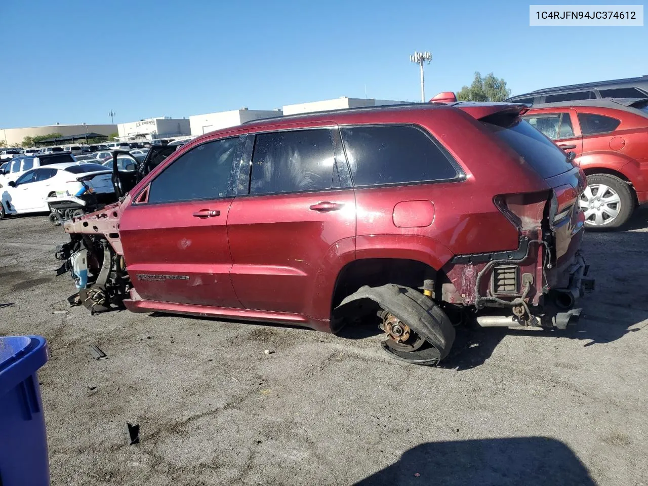
[[[49,485],[45,417],[36,371],[49,359],[41,336],[0,337],[0,484]]]

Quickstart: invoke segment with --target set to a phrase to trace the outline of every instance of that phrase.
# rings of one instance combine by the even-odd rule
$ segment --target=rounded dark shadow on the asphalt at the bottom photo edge
[[[562,442],[548,437],[430,442],[356,486],[525,485],[595,486],[586,467]]]

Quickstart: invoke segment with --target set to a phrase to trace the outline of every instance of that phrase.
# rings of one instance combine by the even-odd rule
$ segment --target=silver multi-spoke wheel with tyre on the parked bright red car
[[[579,200],[587,227],[616,228],[630,218],[634,198],[623,179],[609,174],[592,174],[587,176],[587,184]]]

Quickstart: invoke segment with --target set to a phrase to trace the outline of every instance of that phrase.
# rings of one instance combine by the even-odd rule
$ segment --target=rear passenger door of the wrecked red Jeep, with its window
[[[325,321],[336,275],[355,256],[356,203],[339,132],[248,137],[248,179],[227,220],[237,296],[248,309]]]

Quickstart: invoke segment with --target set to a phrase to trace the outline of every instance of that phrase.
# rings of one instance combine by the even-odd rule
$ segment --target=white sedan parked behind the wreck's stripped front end
[[[86,191],[113,192],[111,171],[94,163],[60,163],[34,168],[0,189],[0,219],[6,214],[49,211],[47,198],[78,196]]]

